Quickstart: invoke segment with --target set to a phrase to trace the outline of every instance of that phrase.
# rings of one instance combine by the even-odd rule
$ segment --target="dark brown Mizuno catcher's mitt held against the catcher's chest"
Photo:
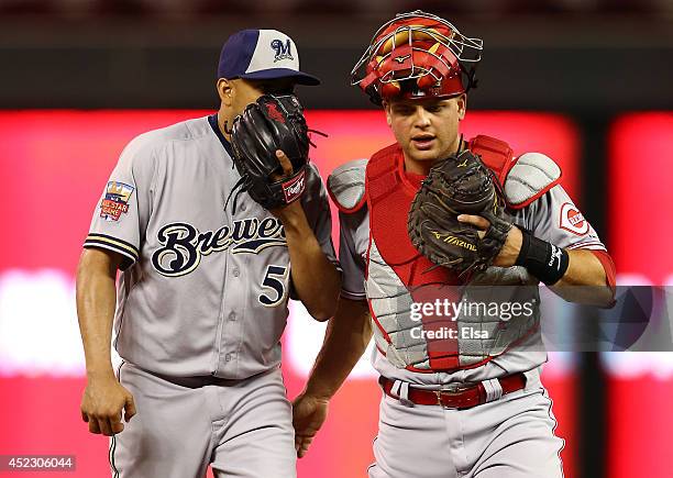
[[[475,226],[459,222],[459,214],[487,219],[490,226],[486,235],[479,238]],[[413,246],[432,263],[462,277],[493,263],[510,227],[498,180],[470,151],[432,166],[413,198],[407,222]]]

